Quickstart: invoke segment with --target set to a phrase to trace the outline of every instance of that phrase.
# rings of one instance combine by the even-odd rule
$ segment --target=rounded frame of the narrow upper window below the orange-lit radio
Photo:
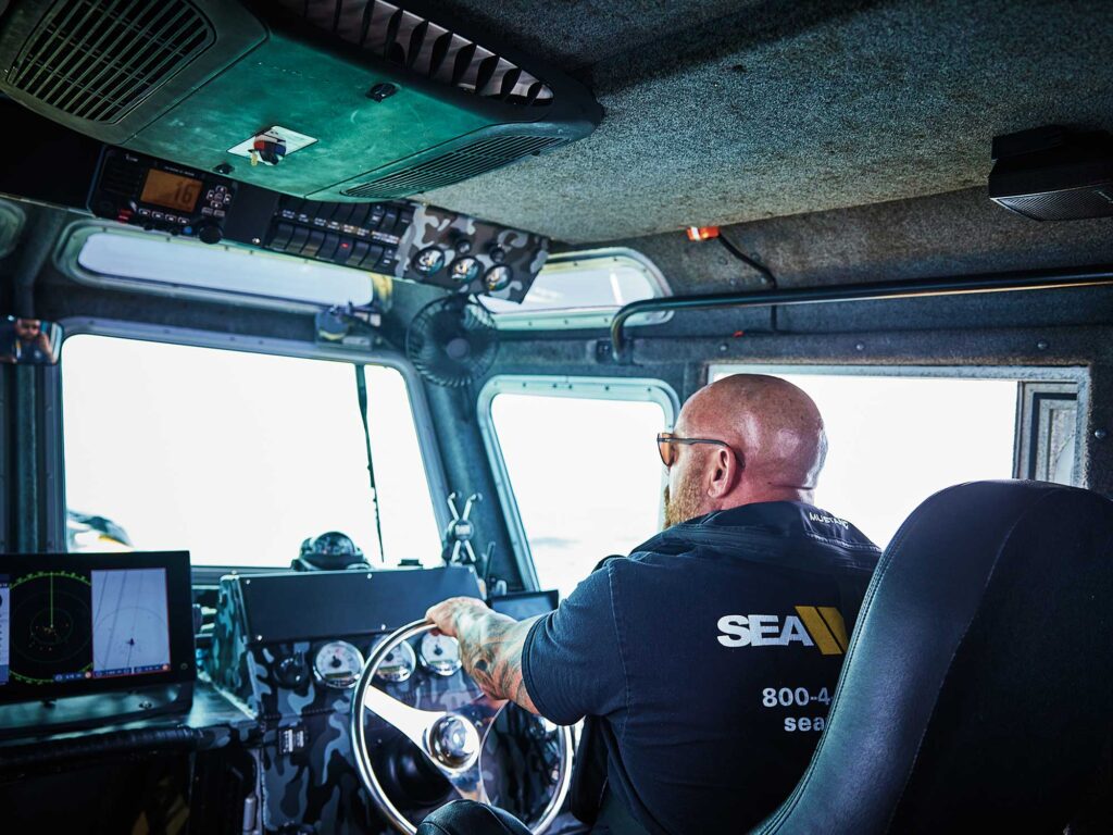
[[[199,302],[209,302],[217,304],[230,304],[237,307],[256,307],[273,311],[283,311],[286,313],[317,313],[318,311],[327,307],[325,304],[316,302],[305,302],[296,298],[283,298],[280,296],[263,296],[253,295],[250,293],[239,293],[232,291],[221,291],[208,287],[194,287],[181,284],[173,284],[170,282],[157,282],[157,281],[145,281],[142,278],[129,278],[127,276],[109,275],[107,273],[98,273],[96,271],[89,269],[81,266],[80,256],[81,249],[85,247],[86,242],[98,234],[117,235],[124,237],[137,237],[137,238],[161,238],[162,240],[174,245],[183,240],[183,238],[174,237],[167,233],[161,232],[146,232],[136,229],[130,226],[120,226],[106,220],[76,220],[66,227],[66,230],[59,238],[58,247],[55,249],[55,266],[63,275],[72,278],[78,284],[83,284],[90,287],[107,288],[114,291],[122,291],[126,293],[138,293],[148,296],[162,296],[165,298],[187,298]],[[188,239],[187,239],[188,240]],[[206,246],[198,242],[193,242],[198,246]],[[213,246],[225,247],[226,249],[238,249],[240,248],[235,242],[227,242],[220,244],[214,244]],[[315,266],[321,266],[322,262],[314,261],[312,258],[298,258],[292,255],[282,255],[279,253],[270,253],[264,250],[255,250],[252,248],[243,248],[243,252],[255,254],[259,257],[277,257],[285,261],[295,259],[306,264],[313,264]],[[337,265],[333,265],[337,266]],[[337,268],[345,268],[338,267]],[[392,279],[387,276],[381,276],[377,273],[371,273],[363,269],[353,271],[356,273],[362,273],[367,276],[367,281],[371,285],[371,294],[373,301],[383,301],[390,297],[390,285]]]

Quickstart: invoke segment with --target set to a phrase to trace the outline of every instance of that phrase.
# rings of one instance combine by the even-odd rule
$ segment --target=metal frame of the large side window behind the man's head
[[[711,362],[707,363],[707,380],[711,381],[721,371],[736,374],[815,374],[830,376],[888,376],[925,377],[945,380],[1015,380],[1017,404],[1013,428],[1013,478],[1025,479],[1022,465],[1034,455],[1028,449],[1037,436],[1023,431],[1025,410],[1024,383],[1063,386],[1073,385],[1077,392],[1075,416],[1074,480],[1076,487],[1086,487],[1085,461],[1090,449],[1086,438],[1086,412],[1090,403],[1090,367],[1085,365],[760,365],[757,363]],[[1023,462],[1023,464],[1022,464]]]

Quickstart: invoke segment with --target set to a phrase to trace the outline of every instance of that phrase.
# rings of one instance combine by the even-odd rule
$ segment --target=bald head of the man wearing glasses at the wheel
[[[735,374],[700,389],[672,434],[721,443],[668,444],[666,527],[752,502],[810,502],[827,456],[811,397],[765,374]]]

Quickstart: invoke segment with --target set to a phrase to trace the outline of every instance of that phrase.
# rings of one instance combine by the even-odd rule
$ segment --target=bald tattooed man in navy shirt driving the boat
[[[426,617],[491,696],[561,725],[598,717],[595,832],[746,832],[807,767],[879,552],[811,504],[827,439],[787,381],[720,380],[658,444],[663,532],[544,617],[469,598]]]

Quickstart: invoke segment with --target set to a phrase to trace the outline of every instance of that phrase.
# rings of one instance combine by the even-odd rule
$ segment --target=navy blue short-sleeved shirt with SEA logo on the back
[[[745,832],[807,768],[879,556],[799,502],[674,525],[533,625],[525,688],[558,724],[601,717],[610,789],[649,832]]]

